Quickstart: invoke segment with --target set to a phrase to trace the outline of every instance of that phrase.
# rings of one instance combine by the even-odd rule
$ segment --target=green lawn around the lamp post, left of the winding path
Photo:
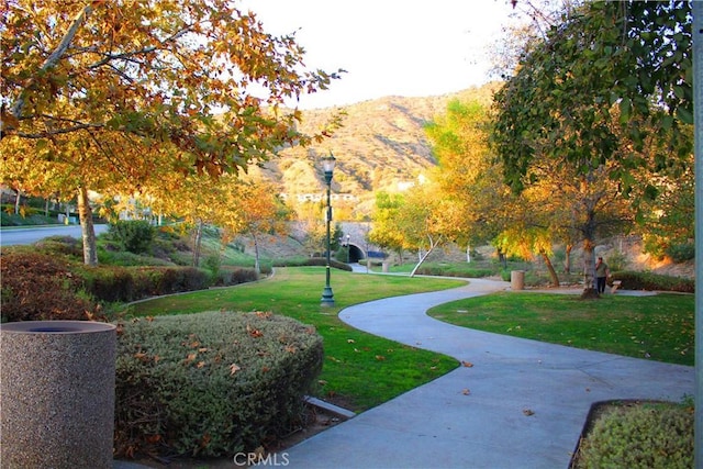
[[[270,279],[233,288],[163,297],[127,309],[154,316],[212,310],[270,311],[314,325],[324,337],[325,361],[317,395],[355,411],[386,402],[457,367],[453,358],[360,332],[338,320],[345,306],[380,298],[458,287],[465,282],[332,271],[335,306],[320,305],[321,267],[277,268]]]

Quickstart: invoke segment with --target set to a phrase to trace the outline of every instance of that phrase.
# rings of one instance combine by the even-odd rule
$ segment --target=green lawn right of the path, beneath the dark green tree
[[[502,292],[436,306],[429,315],[480,331],[693,366],[694,297]]]

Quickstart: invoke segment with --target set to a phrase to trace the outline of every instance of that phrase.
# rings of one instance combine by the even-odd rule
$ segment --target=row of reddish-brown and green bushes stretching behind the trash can
[[[89,267],[69,260],[76,247],[47,241],[42,249],[54,255],[16,249],[2,254],[1,320],[87,320],[101,315],[100,302],[130,302],[143,298],[201,290],[211,273],[193,267]],[[59,255],[60,254],[60,255]],[[256,280],[254,269],[223,269],[220,284]]]

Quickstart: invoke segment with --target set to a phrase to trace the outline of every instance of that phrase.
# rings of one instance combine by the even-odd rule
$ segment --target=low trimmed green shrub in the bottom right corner
[[[581,442],[577,468],[692,468],[693,410],[663,403],[611,405]]]

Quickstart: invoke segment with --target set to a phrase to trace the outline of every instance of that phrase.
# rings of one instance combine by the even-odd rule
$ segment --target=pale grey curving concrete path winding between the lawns
[[[289,448],[287,467],[567,468],[593,402],[693,395],[693,367],[483,333],[425,314],[507,287],[473,279],[343,310],[339,317],[354,327],[473,366]]]

